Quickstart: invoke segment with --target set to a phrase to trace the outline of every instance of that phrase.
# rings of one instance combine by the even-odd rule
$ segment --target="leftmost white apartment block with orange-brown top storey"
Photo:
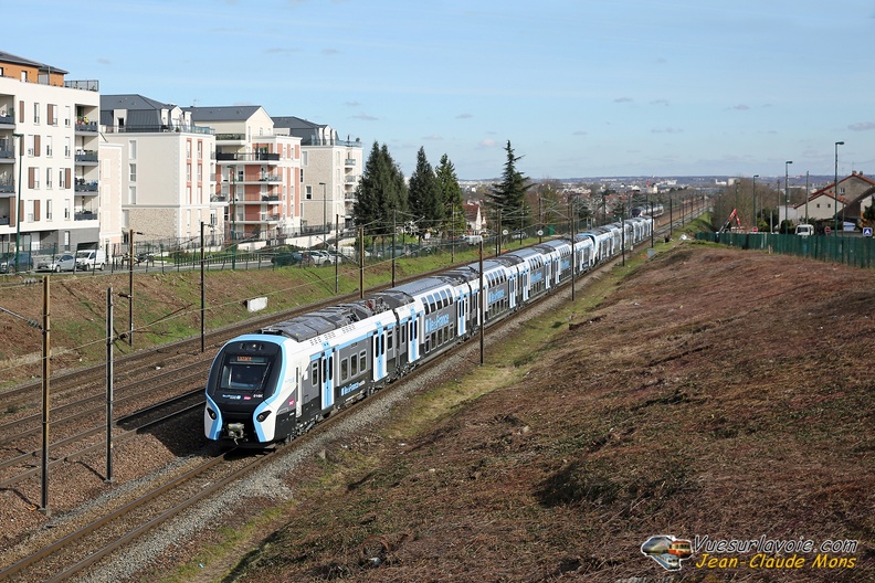
[[[0,251],[108,245],[98,160],[99,85],[0,52]],[[108,171],[108,169],[107,169]]]

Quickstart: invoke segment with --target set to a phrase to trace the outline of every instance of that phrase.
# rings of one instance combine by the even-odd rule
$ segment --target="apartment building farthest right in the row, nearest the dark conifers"
[[[361,180],[361,140],[341,140],[337,130],[295,116],[274,117],[277,134],[301,138],[302,199],[299,215],[304,231],[333,231],[339,216],[344,230],[352,214],[356,187]],[[354,226],[352,224],[349,225]]]

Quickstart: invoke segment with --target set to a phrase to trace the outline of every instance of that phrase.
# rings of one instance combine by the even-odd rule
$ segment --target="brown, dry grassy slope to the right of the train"
[[[875,579],[875,273],[688,244],[605,296],[289,477],[225,581],[655,581],[660,534],[696,547],[672,581]]]

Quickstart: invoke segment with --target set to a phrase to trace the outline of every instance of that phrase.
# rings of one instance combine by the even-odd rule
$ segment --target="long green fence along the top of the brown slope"
[[[772,233],[696,233],[696,239],[745,250],[797,255],[853,267],[875,267],[872,237],[843,235],[780,235]]]

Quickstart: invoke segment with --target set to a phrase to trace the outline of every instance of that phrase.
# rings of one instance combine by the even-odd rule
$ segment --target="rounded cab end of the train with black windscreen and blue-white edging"
[[[247,335],[222,347],[207,381],[208,439],[263,447],[274,441],[277,428],[294,425],[296,386],[282,386],[287,378],[285,341],[280,336]]]

